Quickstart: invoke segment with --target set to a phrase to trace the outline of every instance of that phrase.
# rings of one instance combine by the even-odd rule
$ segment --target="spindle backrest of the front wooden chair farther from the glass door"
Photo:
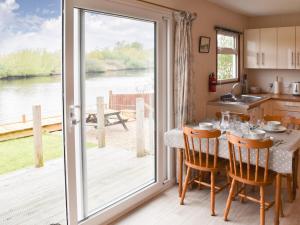
[[[268,180],[269,149],[273,142],[267,140],[252,140],[227,133],[230,173],[245,181],[245,183],[266,183]],[[260,166],[260,157],[263,156],[265,164]],[[251,162],[251,158],[255,162]],[[263,172],[263,177],[260,176]]]

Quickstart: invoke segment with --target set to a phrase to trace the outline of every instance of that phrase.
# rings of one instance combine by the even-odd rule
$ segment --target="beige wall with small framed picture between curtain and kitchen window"
[[[238,31],[243,31],[247,25],[247,17],[221,8],[206,0],[150,0],[153,3],[188,10],[198,14],[193,24],[193,70],[195,80],[193,88],[195,95],[193,101],[196,102],[195,119],[200,120],[205,117],[206,103],[220,94],[228,92],[232,84],[217,87],[216,93],[208,92],[208,75],[216,73],[216,25],[224,26]],[[198,41],[200,36],[211,38],[210,52],[198,53]]]

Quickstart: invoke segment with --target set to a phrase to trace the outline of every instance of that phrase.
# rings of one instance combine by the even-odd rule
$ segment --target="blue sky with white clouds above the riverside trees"
[[[153,48],[154,25],[132,19],[86,14],[86,50],[138,41]],[[0,0],[0,54],[22,49],[61,49],[60,0]]]

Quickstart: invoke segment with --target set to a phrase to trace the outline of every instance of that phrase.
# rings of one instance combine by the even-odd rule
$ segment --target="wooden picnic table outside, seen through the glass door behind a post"
[[[123,119],[120,114],[121,111],[118,110],[112,110],[112,109],[105,110],[104,111],[105,126],[107,127],[107,126],[121,124],[124,127],[124,129],[128,131],[128,128],[125,124],[128,121],[128,119]],[[97,128],[97,112],[88,112],[85,122],[87,125],[91,125]]]

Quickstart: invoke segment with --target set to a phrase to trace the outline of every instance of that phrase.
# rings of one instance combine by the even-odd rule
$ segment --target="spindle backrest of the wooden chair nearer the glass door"
[[[199,168],[215,169],[217,168],[220,130],[197,130],[190,127],[183,128],[184,144],[185,144],[185,161],[198,166]],[[215,140],[214,144],[214,160],[213,165],[209,165],[210,156],[210,139]],[[206,148],[203,151],[203,141],[206,140]],[[201,153],[201,154],[200,154]],[[198,162],[198,164],[197,164]],[[211,167],[212,166],[212,167]]]

